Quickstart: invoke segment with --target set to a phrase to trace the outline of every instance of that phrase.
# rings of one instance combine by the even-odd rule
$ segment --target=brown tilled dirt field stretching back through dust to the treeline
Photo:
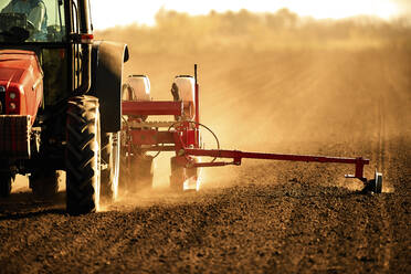
[[[64,192],[40,202],[14,188],[0,200],[0,273],[411,273],[411,51],[131,56],[127,74],[162,99],[198,63],[201,118],[223,148],[363,156],[383,193],[360,194],[350,166],[256,160],[205,170],[198,193],[168,193],[166,173],[82,217]]]

